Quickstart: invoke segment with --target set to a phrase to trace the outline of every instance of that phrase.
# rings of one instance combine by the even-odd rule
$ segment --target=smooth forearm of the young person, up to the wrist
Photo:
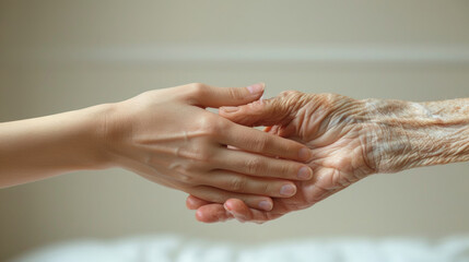
[[[0,123],[0,188],[106,167],[99,139],[108,107]]]

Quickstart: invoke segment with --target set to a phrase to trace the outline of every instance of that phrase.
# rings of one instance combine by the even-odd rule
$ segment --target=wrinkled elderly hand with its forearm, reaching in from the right
[[[307,145],[314,176],[295,181],[296,194],[274,198],[267,212],[239,199],[219,204],[189,195],[187,206],[206,223],[263,223],[309,207],[373,174],[469,160],[469,98],[412,103],[284,92],[223,107],[220,115],[245,126],[267,126],[269,133]]]

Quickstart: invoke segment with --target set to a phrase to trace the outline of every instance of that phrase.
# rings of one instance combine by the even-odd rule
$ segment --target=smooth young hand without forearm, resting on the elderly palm
[[[189,84],[118,103],[105,132],[112,162],[202,200],[223,203],[236,198],[268,211],[269,196],[296,192],[291,180],[310,179],[310,168],[298,163],[310,157],[309,150],[206,110],[244,105],[259,99],[262,92],[262,84],[237,88]]]

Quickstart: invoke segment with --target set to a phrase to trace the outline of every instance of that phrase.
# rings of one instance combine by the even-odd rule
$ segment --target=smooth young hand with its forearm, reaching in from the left
[[[292,196],[293,181],[312,178],[304,164],[310,151],[206,110],[245,105],[262,93],[263,84],[189,84],[0,123],[0,188],[121,167],[201,200],[224,203],[235,198],[269,211],[271,198]]]

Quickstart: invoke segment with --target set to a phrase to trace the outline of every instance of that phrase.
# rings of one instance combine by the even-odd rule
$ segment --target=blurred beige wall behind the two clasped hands
[[[263,81],[355,98],[469,96],[468,1],[0,0],[0,121],[189,82]],[[196,222],[185,194],[125,170],[0,190],[0,260],[75,238],[181,234],[260,242],[469,233],[469,164],[370,177],[250,225]]]

